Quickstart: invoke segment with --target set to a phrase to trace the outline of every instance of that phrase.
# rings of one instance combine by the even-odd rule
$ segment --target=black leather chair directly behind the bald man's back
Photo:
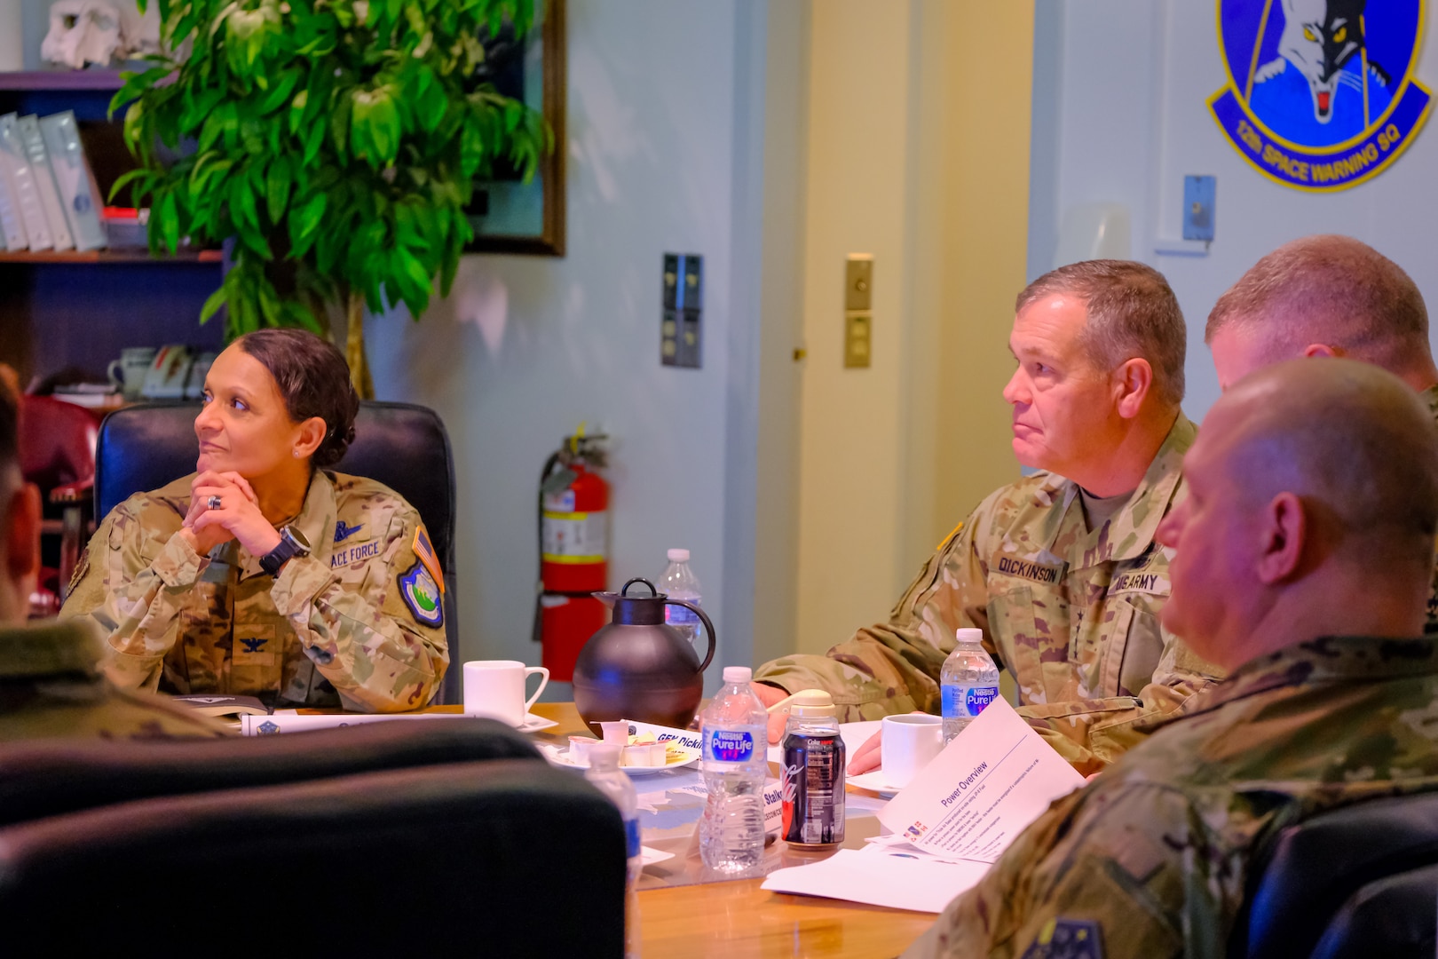
[[[1360,889],[1435,864],[1438,792],[1369,799],[1291,825],[1254,863],[1229,955],[1307,956]],[[1429,917],[1435,909],[1429,901]]]

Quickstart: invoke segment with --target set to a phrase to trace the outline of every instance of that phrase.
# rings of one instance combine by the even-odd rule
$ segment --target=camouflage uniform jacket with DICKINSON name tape
[[[929,558],[889,623],[828,656],[787,656],[756,680],[827,689],[841,720],[939,709],[939,669],[959,627],[1014,674],[1020,715],[1083,772],[1219,677],[1159,627],[1172,556],[1153,532],[1182,495],[1196,428],[1179,416],[1127,505],[1090,531],[1078,486],[1037,473],[988,499]]]

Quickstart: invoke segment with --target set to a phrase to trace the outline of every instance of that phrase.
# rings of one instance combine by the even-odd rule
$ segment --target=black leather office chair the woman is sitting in
[[[194,472],[198,411],[198,403],[142,403],[105,417],[95,453],[96,516],[106,516],[132,493]],[[433,410],[411,403],[361,403],[355,441],[334,469],[378,480],[420,510],[444,569],[450,669],[434,702],[457,703],[464,659],[454,614],[454,460],[444,423]]]

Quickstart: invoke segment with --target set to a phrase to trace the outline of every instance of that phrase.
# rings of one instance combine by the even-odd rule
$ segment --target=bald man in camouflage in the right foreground
[[[1265,840],[1438,789],[1424,403],[1368,364],[1277,364],[1224,394],[1183,470],[1163,623],[1231,674],[1050,807],[906,955],[1020,956],[1066,927],[1106,956],[1222,956]]]

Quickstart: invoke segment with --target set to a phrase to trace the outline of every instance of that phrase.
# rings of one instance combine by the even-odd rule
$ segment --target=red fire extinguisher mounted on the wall
[[[544,646],[549,677],[568,683],[574,661],[604,625],[604,604],[594,592],[608,585],[610,485],[603,434],[584,424],[545,460],[539,474],[539,585],[533,638]]]

